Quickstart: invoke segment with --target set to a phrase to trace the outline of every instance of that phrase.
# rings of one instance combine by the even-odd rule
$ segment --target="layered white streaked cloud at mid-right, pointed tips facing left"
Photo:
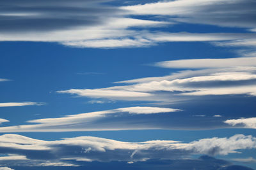
[[[154,66],[184,70],[167,76],[116,82],[128,85],[59,90],[58,93],[111,101],[160,103],[189,101],[189,96],[256,96],[256,57],[170,60],[157,62]]]

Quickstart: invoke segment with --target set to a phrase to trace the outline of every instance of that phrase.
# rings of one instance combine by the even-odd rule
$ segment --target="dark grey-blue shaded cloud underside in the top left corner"
[[[102,1],[1,1],[0,31],[54,31],[100,24],[117,11]]]

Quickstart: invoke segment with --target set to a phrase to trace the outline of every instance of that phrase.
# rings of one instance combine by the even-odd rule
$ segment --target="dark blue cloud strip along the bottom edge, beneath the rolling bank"
[[[79,167],[12,167],[15,170],[23,170],[23,169],[67,169],[67,170],[80,170],[80,169],[147,169],[147,170],[167,170],[167,169],[179,169],[179,170],[188,170],[188,169],[196,169],[196,170],[252,170],[249,167],[245,166],[236,166],[232,165],[230,162],[221,159],[215,159],[214,157],[202,156],[198,159],[180,159],[180,160],[159,160],[159,159],[151,159],[146,162],[121,162],[121,161],[113,161],[113,162],[81,162]]]

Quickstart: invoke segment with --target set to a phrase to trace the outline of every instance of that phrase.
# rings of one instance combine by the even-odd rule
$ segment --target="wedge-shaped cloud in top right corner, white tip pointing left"
[[[245,13],[244,8],[246,8]],[[255,27],[255,2],[250,0],[159,1],[123,6],[121,9],[127,10],[131,15],[167,16],[169,20],[177,22],[224,27]]]

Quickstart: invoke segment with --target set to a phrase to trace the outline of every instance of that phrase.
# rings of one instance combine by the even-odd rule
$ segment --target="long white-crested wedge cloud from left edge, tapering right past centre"
[[[147,114],[181,111],[173,108],[131,107],[67,115],[60,118],[29,120],[28,125],[0,127],[0,132],[68,132],[68,131],[117,131],[125,129],[159,129],[157,122],[150,124]],[[129,113],[129,114],[127,114]],[[136,118],[136,115],[144,115]],[[162,114],[160,114],[162,115]],[[163,116],[163,115],[162,115]],[[111,120],[109,120],[111,118]],[[100,124],[96,122],[100,121]],[[139,122],[138,122],[139,121]],[[24,141],[24,139],[20,139]],[[34,142],[34,141],[31,141]]]

